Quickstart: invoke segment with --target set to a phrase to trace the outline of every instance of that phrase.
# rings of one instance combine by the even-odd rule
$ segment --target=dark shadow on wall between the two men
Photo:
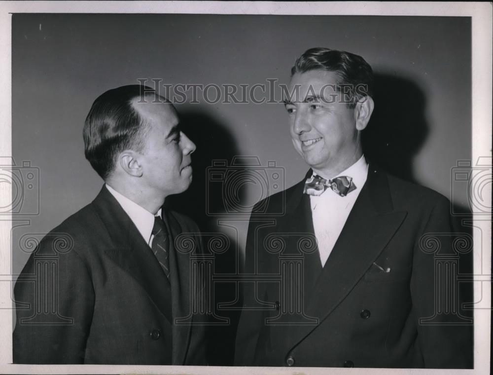
[[[193,182],[185,192],[170,196],[166,204],[171,209],[195,220],[202,232],[224,232],[224,228],[217,224],[217,217],[209,216],[207,213],[207,209],[214,213],[224,213],[222,185],[209,182],[207,167],[211,167],[213,160],[227,160],[229,163],[234,156],[238,155],[236,141],[227,126],[210,114],[201,111],[200,108],[180,111],[180,124],[183,132],[197,146],[192,154]],[[241,201],[245,200],[244,194],[238,198]],[[206,237],[203,238],[207,252]],[[227,251],[215,254],[214,273],[235,274],[239,253],[238,244],[231,241]],[[207,348],[209,365],[233,365],[240,311],[218,311],[217,304],[233,301],[237,297],[234,283],[215,283],[214,312],[217,316],[229,318],[230,323],[209,328],[210,344]]]

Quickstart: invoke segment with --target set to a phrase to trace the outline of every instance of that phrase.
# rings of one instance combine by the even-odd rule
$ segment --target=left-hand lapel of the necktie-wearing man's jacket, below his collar
[[[106,255],[141,285],[171,324],[170,283],[139,230],[106,187],[101,189],[93,205],[111,238]]]

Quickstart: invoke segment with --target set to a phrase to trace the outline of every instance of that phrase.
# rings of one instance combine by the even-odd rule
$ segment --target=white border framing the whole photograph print
[[[11,150],[11,15],[12,13],[196,13],[277,15],[463,16],[472,21],[472,160],[492,156],[492,4],[490,2],[274,2],[274,1],[2,1],[0,3],[0,155]],[[487,199],[491,199],[491,184]],[[11,189],[0,184],[0,204],[11,201]],[[489,201],[491,207],[491,201]],[[10,218],[11,219],[11,218]],[[11,220],[0,220],[0,373],[1,374],[327,374],[325,368],[13,365],[10,270]],[[475,222],[477,249],[474,273],[486,282],[474,283],[482,294],[474,311],[474,370],[339,369],[330,374],[487,374],[491,347],[491,221]],[[483,236],[483,238],[481,238]],[[488,282],[490,280],[490,282]]]

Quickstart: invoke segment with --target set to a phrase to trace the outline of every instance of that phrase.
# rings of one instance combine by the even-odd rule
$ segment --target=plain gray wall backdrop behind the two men
[[[32,250],[19,245],[23,235],[46,233],[102,187],[84,158],[82,140],[97,96],[139,78],[151,86],[153,78],[171,85],[251,87],[268,84],[268,78],[287,83],[296,57],[315,46],[359,54],[375,71],[368,154],[465,207],[465,189],[451,190],[451,169],[471,157],[470,40],[466,17],[14,14],[12,156],[23,173],[38,173],[39,184],[36,177],[24,199],[35,204],[39,197],[39,212],[33,208],[16,217],[26,225],[13,229],[13,273]],[[209,92],[212,102],[214,89]],[[256,156],[259,168],[265,167],[262,176],[279,172],[278,189],[301,180],[307,166],[292,147],[282,104],[197,99],[176,105],[198,148],[190,191],[170,197],[169,204],[205,230],[227,233],[229,250],[241,253],[247,215],[221,202],[228,188],[220,177],[210,180],[213,160],[228,166],[234,156]],[[225,176],[223,166],[214,165]],[[229,193],[243,207],[240,214],[270,191],[246,177],[229,188],[236,189]]]

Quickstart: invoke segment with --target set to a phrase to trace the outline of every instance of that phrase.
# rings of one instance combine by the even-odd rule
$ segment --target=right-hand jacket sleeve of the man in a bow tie
[[[455,276],[461,239],[453,227],[450,202],[440,196],[414,250],[412,313],[425,368],[473,366],[472,319],[461,314],[464,298]]]

